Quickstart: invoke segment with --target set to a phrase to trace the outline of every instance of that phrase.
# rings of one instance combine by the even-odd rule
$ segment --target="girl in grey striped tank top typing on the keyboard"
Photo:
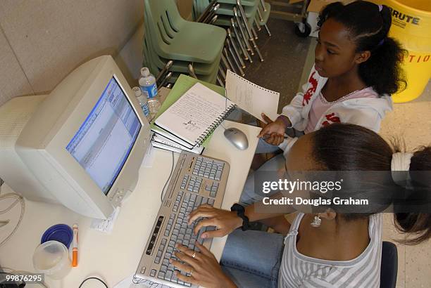
[[[397,195],[407,194],[407,191],[411,195],[419,193],[419,187],[429,190],[431,186],[429,176],[420,178],[423,174],[416,174],[431,169],[431,148],[421,148],[413,154],[399,152],[366,128],[331,124],[299,138],[287,155],[286,168],[288,174],[292,171],[353,171],[353,177],[373,171],[391,185],[367,181],[365,188],[356,187],[356,192],[361,193],[354,196],[382,199],[382,193],[395,187],[400,193]],[[404,174],[401,172],[404,179],[394,171],[404,171]],[[351,194],[346,195],[349,192],[349,189],[347,192],[342,189],[325,197],[332,200],[335,195],[350,197]],[[308,192],[309,199],[316,197],[312,194]],[[270,198],[277,197],[280,199],[280,195]],[[189,214],[189,224],[206,218],[197,223],[195,232],[205,226],[215,226],[217,230],[207,231],[201,237],[229,235],[220,264],[199,243],[196,245],[200,252],[178,245],[175,257],[179,261],[170,261],[182,270],[183,274],[177,274],[180,280],[202,287],[380,287],[382,214],[378,212],[391,201],[389,197],[370,203],[361,211],[340,210],[326,202],[320,205],[319,213],[314,210],[298,213],[292,223],[284,216],[275,217],[275,213],[258,213],[258,203],[245,209],[236,205],[234,211],[202,205]],[[408,238],[409,244],[431,237],[430,214],[403,212],[394,214],[395,222],[399,230],[414,236]],[[264,218],[277,219],[273,223],[279,233],[246,230],[248,221]],[[237,229],[241,227],[242,230]]]

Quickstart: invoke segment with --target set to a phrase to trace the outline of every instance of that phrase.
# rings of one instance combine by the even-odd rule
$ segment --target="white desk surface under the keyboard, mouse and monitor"
[[[244,187],[258,143],[256,136],[260,129],[228,121],[223,122],[223,125],[226,128],[241,129],[249,139],[247,150],[237,150],[227,142],[223,136],[224,129],[219,126],[214,131],[208,148],[204,150],[204,155],[230,163],[230,174],[223,199],[223,208],[230,209],[232,203],[239,199]],[[26,201],[23,222],[15,235],[0,247],[0,266],[14,270],[34,271],[32,254],[44,230],[57,223],[70,226],[78,223],[79,265],[77,268],[72,268],[63,280],[51,280],[46,277],[46,284],[49,284],[49,287],[78,287],[80,282],[89,276],[99,276],[106,281],[108,287],[113,287],[125,277],[135,273],[144,245],[151,233],[154,218],[158,213],[161,190],[169,176],[172,163],[171,152],[154,149],[152,153],[154,153],[153,166],[151,168],[142,166],[139,169],[139,181],[135,191],[123,203],[111,234],[107,235],[90,229],[91,218],[75,214],[61,205]],[[177,154],[175,154],[175,163],[176,160]],[[211,251],[219,260],[225,241],[226,237],[213,240]],[[94,285],[91,287],[99,287],[96,286],[99,283],[92,284]]]

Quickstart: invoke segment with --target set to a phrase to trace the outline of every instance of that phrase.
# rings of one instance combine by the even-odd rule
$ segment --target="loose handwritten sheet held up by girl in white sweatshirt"
[[[277,118],[280,93],[258,86],[230,70],[226,74],[226,96],[258,119],[262,119],[261,113],[273,120]]]

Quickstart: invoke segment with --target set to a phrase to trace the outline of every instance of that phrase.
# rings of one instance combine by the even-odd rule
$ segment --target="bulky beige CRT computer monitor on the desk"
[[[28,199],[107,218],[135,188],[149,136],[125,77],[111,56],[101,56],[38,105],[3,157],[0,177]]]

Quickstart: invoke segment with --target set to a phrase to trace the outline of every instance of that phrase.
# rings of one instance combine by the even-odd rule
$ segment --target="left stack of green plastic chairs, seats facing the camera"
[[[181,18],[175,0],[144,0],[143,65],[158,87],[170,87],[180,74],[215,83],[226,31]]]

